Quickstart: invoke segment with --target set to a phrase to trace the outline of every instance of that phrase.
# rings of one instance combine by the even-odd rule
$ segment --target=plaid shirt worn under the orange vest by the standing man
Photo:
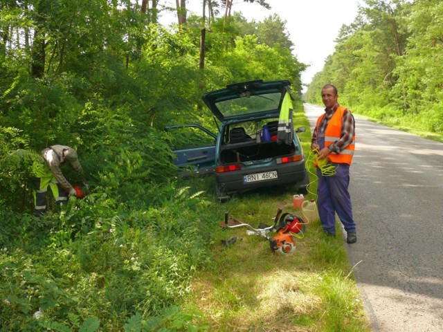
[[[329,123],[329,120],[331,120],[332,116],[334,115],[335,111],[338,108],[338,104],[335,104],[330,109],[325,109],[325,116],[320,121],[320,124],[318,125],[318,132],[324,133],[326,131],[327,124]],[[352,113],[345,109],[343,113],[343,118],[341,120],[341,136],[339,140],[336,140],[332,145],[330,146],[330,149],[332,152],[335,152],[336,154],[339,154],[343,149],[347,147],[347,145],[350,145],[352,143],[352,138],[354,137],[355,133],[355,120],[354,116],[352,116]],[[314,129],[314,133],[312,134],[312,140],[311,144],[314,144],[317,142],[317,127]]]

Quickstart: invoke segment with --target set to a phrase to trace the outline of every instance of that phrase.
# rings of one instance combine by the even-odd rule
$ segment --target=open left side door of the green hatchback
[[[199,124],[183,124],[165,127],[174,164],[181,169],[181,176],[205,176],[215,171],[215,143],[217,135]]]

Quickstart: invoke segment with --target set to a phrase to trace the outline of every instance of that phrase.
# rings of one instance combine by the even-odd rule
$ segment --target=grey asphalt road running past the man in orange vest
[[[305,113],[314,130],[323,107]],[[356,117],[350,194],[372,331],[443,331],[443,144]]]

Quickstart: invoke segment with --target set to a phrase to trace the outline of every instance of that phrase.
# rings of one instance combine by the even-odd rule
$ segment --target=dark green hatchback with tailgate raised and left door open
[[[192,146],[174,149],[176,165],[213,174],[221,201],[234,192],[275,185],[305,191],[309,176],[296,133],[306,129],[293,129],[290,86],[288,80],[256,80],[205,93],[202,99],[219,120],[219,131],[199,124],[168,127],[195,135]]]

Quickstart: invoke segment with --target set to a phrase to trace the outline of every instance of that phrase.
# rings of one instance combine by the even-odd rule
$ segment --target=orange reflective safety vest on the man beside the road
[[[336,142],[341,137],[341,127],[342,127],[342,118],[343,113],[345,112],[345,107],[339,106],[334,115],[332,116],[331,120],[329,120],[325,133],[318,133],[318,127],[325,116],[320,116],[317,120],[317,138],[324,136],[325,138],[325,147],[331,145],[332,143]],[[347,145],[345,149],[343,149],[339,154],[331,153],[327,156],[327,158],[332,163],[341,163],[341,164],[348,164],[351,165],[352,163],[352,157],[354,156],[354,150],[355,150],[355,132],[354,137],[352,137],[352,142],[350,145]]]

